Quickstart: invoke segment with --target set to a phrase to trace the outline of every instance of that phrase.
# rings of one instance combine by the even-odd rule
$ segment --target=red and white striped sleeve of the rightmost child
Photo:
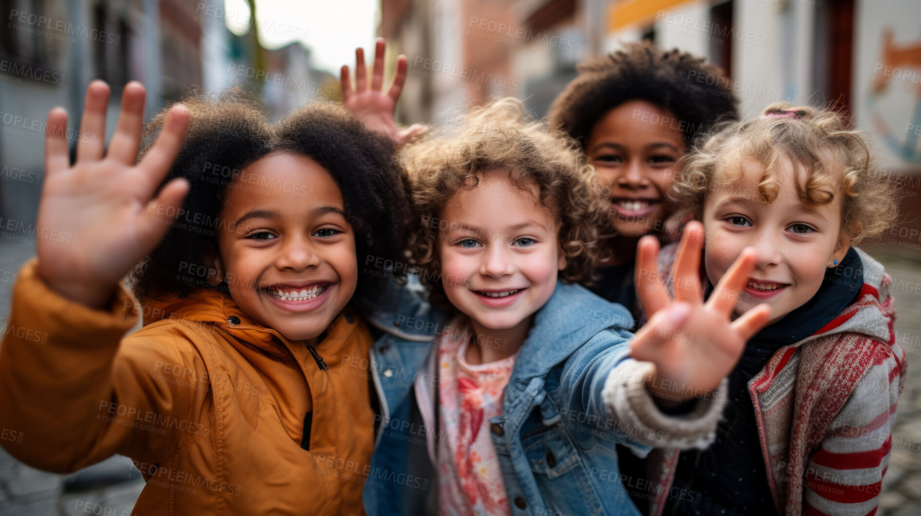
[[[803,479],[803,514],[876,514],[892,453],[904,357],[897,343],[877,348],[869,371],[810,457]]]

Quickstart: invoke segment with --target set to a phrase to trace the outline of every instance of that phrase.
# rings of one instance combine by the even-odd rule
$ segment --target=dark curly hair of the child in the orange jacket
[[[192,119],[164,184],[186,178],[191,189],[179,219],[132,271],[129,281],[139,297],[188,298],[203,287],[229,294],[226,282],[214,287],[204,278],[183,277],[181,265],[203,264],[216,255],[217,215],[229,185],[244,167],[278,150],[307,155],[330,172],[342,190],[359,261],[366,256],[402,256],[409,207],[395,149],[342,106],[314,102],[272,125],[239,88],[216,95],[195,91],[182,102]],[[167,114],[163,109],[150,121],[139,160],[156,141]],[[365,295],[373,284],[358,281],[356,296]]]

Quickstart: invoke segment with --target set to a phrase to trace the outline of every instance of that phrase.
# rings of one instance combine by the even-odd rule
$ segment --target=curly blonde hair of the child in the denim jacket
[[[431,222],[461,188],[473,188],[484,173],[507,170],[522,189],[535,188],[543,207],[556,216],[559,247],[566,258],[560,277],[591,281],[592,269],[608,258],[600,228],[608,206],[588,159],[575,140],[531,120],[517,98],[496,100],[472,109],[457,123],[427,132],[402,151],[413,210],[410,250],[414,263],[427,269],[429,286],[441,290],[437,231]]]

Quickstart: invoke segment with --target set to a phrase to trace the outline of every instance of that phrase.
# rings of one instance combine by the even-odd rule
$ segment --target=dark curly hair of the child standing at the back
[[[738,118],[738,99],[723,71],[678,49],[629,43],[623,51],[579,64],[577,70],[577,77],[554,100],[549,117],[552,129],[569,133],[583,147],[595,122],[630,100],[670,110],[688,148],[713,122]]]

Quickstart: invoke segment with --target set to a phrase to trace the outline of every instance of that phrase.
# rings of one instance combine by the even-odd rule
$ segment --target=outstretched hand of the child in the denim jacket
[[[717,388],[739,361],[745,343],[771,315],[769,305],[759,304],[732,320],[739,292],[754,269],[751,248],[742,251],[704,303],[700,282],[703,246],[703,225],[687,224],[672,268],[673,298],[659,277],[659,241],[645,236],[636,247],[636,292],[650,317],[630,341],[630,354],[656,365],[647,387],[672,403]]]

